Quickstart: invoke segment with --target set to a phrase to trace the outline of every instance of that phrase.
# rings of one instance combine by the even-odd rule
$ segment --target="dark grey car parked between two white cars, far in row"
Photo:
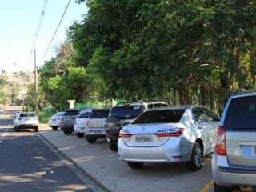
[[[75,119],[80,114],[80,110],[65,110],[62,119],[61,119],[61,130],[64,134],[72,134],[74,132],[74,123]]]

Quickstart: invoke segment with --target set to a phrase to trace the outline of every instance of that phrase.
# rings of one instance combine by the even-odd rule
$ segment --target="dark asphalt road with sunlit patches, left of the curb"
[[[10,122],[8,114],[0,114],[1,192],[91,191],[59,161],[38,134],[16,133]]]

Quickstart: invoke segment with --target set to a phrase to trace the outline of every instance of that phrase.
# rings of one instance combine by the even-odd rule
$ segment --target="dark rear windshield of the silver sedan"
[[[153,110],[139,116],[132,124],[179,122],[184,110]]]

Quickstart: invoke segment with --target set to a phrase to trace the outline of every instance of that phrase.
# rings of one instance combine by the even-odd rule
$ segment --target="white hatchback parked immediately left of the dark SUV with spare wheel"
[[[86,121],[86,140],[94,143],[98,138],[106,138],[105,123],[110,110],[92,110]]]

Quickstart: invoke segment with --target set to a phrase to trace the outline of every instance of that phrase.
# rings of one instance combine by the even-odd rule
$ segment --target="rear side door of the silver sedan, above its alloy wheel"
[[[204,145],[204,154],[210,153],[210,134],[209,130],[211,126],[207,123],[206,114],[202,107],[194,107],[192,109],[192,118],[196,129],[201,131],[201,139]]]

